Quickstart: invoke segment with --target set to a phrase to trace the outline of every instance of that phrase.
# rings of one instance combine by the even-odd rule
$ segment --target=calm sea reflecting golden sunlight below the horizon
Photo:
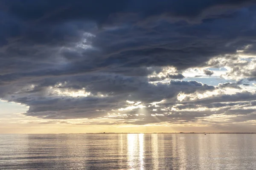
[[[256,170],[256,134],[1,134],[0,170]]]

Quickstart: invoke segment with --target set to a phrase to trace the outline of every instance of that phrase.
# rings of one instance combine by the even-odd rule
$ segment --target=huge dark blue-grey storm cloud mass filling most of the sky
[[[72,119],[104,117],[128,107],[126,100],[150,105],[166,99],[172,106],[180,93],[213,91],[212,85],[169,79],[183,79],[187,68],[218,67],[223,62],[207,62],[216,56],[232,56],[248,44],[252,45],[248,53],[253,53],[254,2],[1,0],[0,98],[28,105],[28,116]],[[234,64],[232,73],[246,65]],[[174,73],[148,77],[169,66],[176,69]],[[256,76],[255,71],[246,74],[244,70],[248,79]],[[213,100],[198,102],[207,105]],[[231,99],[219,96],[219,100]],[[202,114],[194,111],[169,117],[189,121]],[[164,119],[159,118],[160,122]],[[148,122],[151,117],[141,124]]]

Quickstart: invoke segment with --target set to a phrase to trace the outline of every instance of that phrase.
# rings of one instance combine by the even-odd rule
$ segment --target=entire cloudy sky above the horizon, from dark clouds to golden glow
[[[256,0],[0,0],[0,133],[256,132]]]

